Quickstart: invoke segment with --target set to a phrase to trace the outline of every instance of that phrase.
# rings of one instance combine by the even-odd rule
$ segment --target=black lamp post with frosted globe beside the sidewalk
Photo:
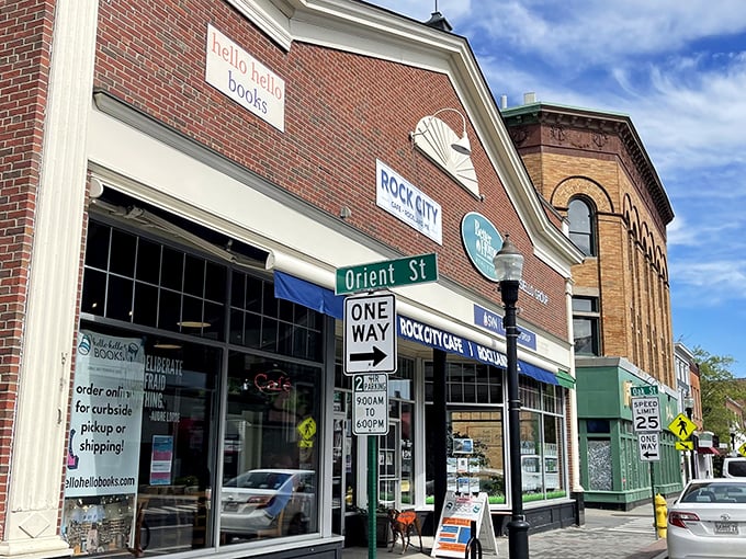
[[[518,392],[518,330],[516,328],[516,303],[523,271],[523,255],[505,236],[502,248],[493,260],[500,296],[505,305],[502,326],[508,353],[508,435],[510,444],[510,502],[512,516],[508,523],[508,557],[528,559],[529,523],[523,514],[523,481],[521,476],[521,400]]]

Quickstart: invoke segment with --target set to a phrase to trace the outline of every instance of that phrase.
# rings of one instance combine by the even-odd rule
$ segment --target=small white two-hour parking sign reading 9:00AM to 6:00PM
[[[352,378],[352,433],[388,434],[388,375],[385,373]]]

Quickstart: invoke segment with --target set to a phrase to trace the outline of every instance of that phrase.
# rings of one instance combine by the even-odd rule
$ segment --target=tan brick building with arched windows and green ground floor
[[[665,430],[680,399],[666,253],[674,213],[664,186],[625,115],[531,94],[502,115],[533,183],[585,254],[573,266],[573,329],[586,503],[629,507],[651,497],[631,386],[659,388],[660,460],[649,467],[657,491],[676,491],[679,456]]]

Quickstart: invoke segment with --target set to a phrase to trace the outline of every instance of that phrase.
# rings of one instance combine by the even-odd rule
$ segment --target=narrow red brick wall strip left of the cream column
[[[3,2],[0,10],[0,526],[3,532],[54,8],[54,0],[26,0]]]

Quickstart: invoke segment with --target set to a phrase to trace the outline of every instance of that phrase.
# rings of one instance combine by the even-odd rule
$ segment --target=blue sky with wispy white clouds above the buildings
[[[670,199],[674,340],[746,377],[743,0],[373,0],[465,36],[493,95],[623,113]]]

